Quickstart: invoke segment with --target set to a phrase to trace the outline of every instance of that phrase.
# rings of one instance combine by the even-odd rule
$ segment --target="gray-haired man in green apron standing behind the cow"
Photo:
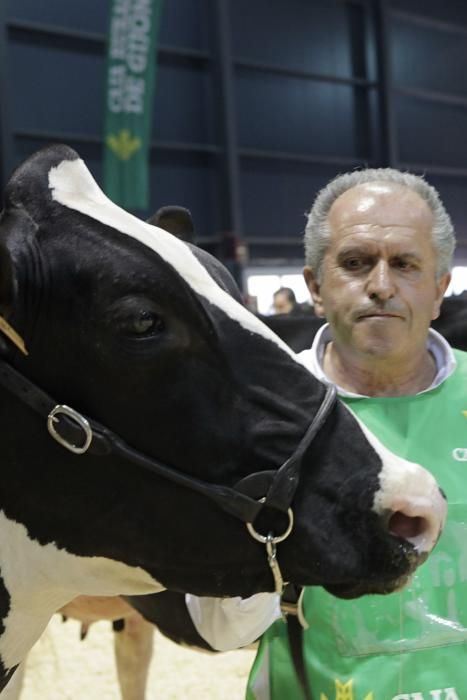
[[[304,275],[327,324],[300,357],[388,448],[433,472],[449,515],[434,553],[400,592],[340,600],[307,588],[304,680],[279,619],[261,638],[248,700],[467,698],[467,354],[430,329],[454,245],[438,193],[408,173],[344,174],[313,204]],[[279,615],[266,596],[257,608],[254,596],[204,601],[192,618],[214,648],[245,644]],[[220,608],[224,624],[209,625]]]

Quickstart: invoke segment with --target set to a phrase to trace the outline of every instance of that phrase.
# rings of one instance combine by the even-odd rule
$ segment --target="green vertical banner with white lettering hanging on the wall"
[[[112,0],[107,53],[104,190],[149,207],[149,143],[162,0]]]

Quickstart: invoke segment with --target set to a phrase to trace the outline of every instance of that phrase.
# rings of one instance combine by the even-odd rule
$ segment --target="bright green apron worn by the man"
[[[467,700],[467,354],[436,389],[344,399],[393,452],[423,464],[449,502],[433,554],[400,593],[338,600],[307,588],[304,655],[315,700]],[[261,640],[247,700],[302,700],[286,626]]]

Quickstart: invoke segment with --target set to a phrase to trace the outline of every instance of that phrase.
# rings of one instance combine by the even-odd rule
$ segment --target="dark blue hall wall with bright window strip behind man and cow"
[[[102,184],[110,0],[2,0],[0,180],[68,143]],[[305,212],[362,165],[423,173],[454,219],[467,287],[465,0],[165,0],[147,218],[177,204],[250,304],[298,303]]]

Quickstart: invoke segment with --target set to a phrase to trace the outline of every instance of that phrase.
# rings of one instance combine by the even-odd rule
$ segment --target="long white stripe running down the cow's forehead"
[[[219,287],[187,245],[172,234],[129,214],[106,197],[81,159],[64,160],[51,168],[49,187],[56,202],[148,246],[171,265],[197,294],[222,309],[246,330],[267,338],[295,357],[295,353],[275,333]]]

